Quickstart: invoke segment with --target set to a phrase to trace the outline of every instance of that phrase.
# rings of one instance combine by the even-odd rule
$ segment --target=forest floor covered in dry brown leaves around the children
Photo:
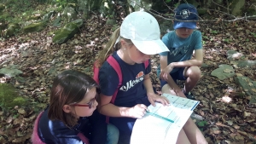
[[[121,18],[119,17],[119,23]],[[170,21],[171,22],[171,21]],[[49,102],[52,79],[58,72],[75,69],[92,76],[92,65],[103,44],[113,32],[113,26],[92,14],[84,22],[80,32],[67,43],[52,43],[52,32],[56,27],[48,26],[42,32],[19,34],[0,41],[0,64],[17,65],[23,72],[19,77],[1,78],[1,83],[15,86],[20,95],[30,101],[23,107],[11,107],[8,112],[0,109],[0,143],[30,143],[33,121],[38,112]],[[236,50],[243,60],[256,60],[256,23],[239,20],[235,22],[201,23],[204,63],[201,80],[192,92],[201,101],[195,113],[204,120],[195,122],[209,143],[255,144],[256,104],[249,104],[250,97],[235,83],[234,77],[219,80],[211,72],[221,64],[234,66],[227,59],[227,51]],[[159,55],[152,57],[150,74],[156,89],[160,81],[156,76]],[[246,76],[256,81],[256,68],[235,67],[236,76]],[[183,82],[179,82],[182,87]],[[228,100],[228,101],[227,101]]]

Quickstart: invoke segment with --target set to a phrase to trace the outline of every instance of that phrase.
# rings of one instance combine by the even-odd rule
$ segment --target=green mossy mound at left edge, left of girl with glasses
[[[0,84],[0,107],[7,109],[9,107],[24,106],[26,99],[19,96],[15,87],[11,84]]]

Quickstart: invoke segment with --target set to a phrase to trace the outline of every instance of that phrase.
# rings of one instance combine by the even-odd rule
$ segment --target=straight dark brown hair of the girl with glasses
[[[67,126],[73,127],[78,119],[73,113],[62,110],[64,105],[79,102],[92,88],[98,88],[96,82],[83,72],[67,70],[54,78],[50,92],[48,118],[61,120]]]

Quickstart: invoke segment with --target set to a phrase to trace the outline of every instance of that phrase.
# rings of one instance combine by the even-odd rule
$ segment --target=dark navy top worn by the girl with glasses
[[[89,139],[90,144],[106,143],[106,118],[97,111],[94,111],[90,117],[80,117],[78,124],[73,128],[68,128],[60,120],[50,120],[48,118],[48,111],[49,107],[45,109],[38,123],[38,135],[44,143],[86,144],[79,138],[79,132]]]

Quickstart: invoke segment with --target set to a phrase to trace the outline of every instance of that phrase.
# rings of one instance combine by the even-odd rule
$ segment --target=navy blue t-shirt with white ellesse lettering
[[[147,95],[147,90],[143,85],[144,76],[151,72],[150,60],[148,67],[144,63],[129,65],[122,60],[117,52],[113,53],[113,58],[118,61],[121,68],[123,81],[119,87],[119,77],[117,72],[105,61],[99,72],[99,84],[103,95],[112,96],[119,87],[114,105],[118,107],[129,107],[129,103],[136,101]]]

